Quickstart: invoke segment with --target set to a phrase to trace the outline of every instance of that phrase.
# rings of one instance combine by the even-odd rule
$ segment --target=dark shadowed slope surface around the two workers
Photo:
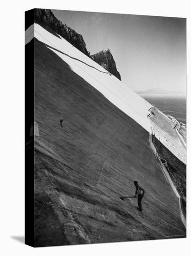
[[[38,40],[35,121],[36,246],[185,236],[148,132]],[[134,180],[141,213],[137,199],[120,200]]]

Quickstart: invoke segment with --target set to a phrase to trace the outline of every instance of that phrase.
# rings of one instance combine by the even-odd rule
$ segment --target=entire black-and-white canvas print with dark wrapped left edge
[[[25,12],[25,243],[186,237],[186,19]]]

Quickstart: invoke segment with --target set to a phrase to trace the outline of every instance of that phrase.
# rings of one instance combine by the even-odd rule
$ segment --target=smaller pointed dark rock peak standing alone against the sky
[[[104,67],[108,72],[115,75],[119,80],[121,80],[121,75],[117,71],[114,58],[109,49],[105,51],[100,51],[99,53],[91,55],[92,59],[96,61],[99,65]]]

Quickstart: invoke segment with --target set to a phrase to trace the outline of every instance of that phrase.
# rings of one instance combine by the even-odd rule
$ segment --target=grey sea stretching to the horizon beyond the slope
[[[186,97],[179,94],[140,94],[165,115],[172,115],[186,124]]]

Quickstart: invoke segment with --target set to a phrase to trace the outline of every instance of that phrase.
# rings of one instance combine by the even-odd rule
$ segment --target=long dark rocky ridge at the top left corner
[[[61,35],[65,40],[70,42],[78,50],[90,56],[86,49],[86,44],[83,40],[83,36],[78,34],[75,30],[63,24],[60,20],[54,16],[49,9],[35,9],[34,11],[34,21],[40,26],[45,27],[47,30],[53,34]]]

